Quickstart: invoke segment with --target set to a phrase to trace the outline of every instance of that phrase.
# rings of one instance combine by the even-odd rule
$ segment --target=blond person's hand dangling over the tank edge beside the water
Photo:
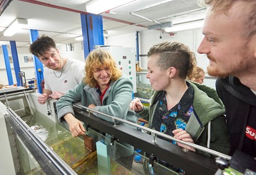
[[[85,134],[85,129],[84,129],[84,126],[83,126],[82,122],[77,120],[77,118],[74,117],[72,114],[70,114],[70,113],[66,114],[64,116],[64,119],[69,124],[70,132],[71,132],[73,137],[77,137],[79,135],[84,135]]]

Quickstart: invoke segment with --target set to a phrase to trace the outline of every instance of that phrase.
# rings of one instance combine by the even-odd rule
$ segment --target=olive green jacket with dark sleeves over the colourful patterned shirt
[[[193,87],[195,94],[193,99],[193,112],[186,125],[186,132],[191,135],[193,141],[197,145],[207,147],[208,122],[211,121],[209,148],[228,154],[229,136],[223,106],[217,103],[216,99],[214,100],[213,98],[210,98],[207,93],[199,90],[197,87],[200,86],[199,84],[195,85],[191,82],[189,83]],[[207,86],[202,87],[203,89],[207,89]],[[213,89],[208,87],[208,92],[211,92],[212,90]],[[159,93],[160,91],[154,91],[153,96],[149,101],[149,107],[144,107],[142,111],[138,112],[140,117],[148,121],[148,128],[151,128],[152,121],[154,120],[154,113],[155,110],[157,110],[156,108],[158,105],[158,102],[155,102],[155,99]],[[198,119],[196,116],[198,116]],[[207,153],[198,150],[197,152],[208,155]]]

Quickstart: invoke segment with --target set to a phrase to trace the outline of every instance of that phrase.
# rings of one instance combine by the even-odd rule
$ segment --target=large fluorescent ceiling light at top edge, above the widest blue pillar
[[[92,14],[101,14],[102,12],[120,7],[132,1],[136,0],[92,0],[85,4],[85,8],[87,12]]]

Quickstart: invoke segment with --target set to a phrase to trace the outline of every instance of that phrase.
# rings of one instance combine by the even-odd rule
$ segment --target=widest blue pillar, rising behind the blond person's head
[[[84,57],[86,58],[95,45],[104,45],[103,20],[101,15],[81,14]]]

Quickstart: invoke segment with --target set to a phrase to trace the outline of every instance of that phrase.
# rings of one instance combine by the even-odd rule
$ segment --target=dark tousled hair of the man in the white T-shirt
[[[36,57],[40,57],[51,48],[57,49],[55,41],[49,36],[42,35],[30,45],[29,51]]]

